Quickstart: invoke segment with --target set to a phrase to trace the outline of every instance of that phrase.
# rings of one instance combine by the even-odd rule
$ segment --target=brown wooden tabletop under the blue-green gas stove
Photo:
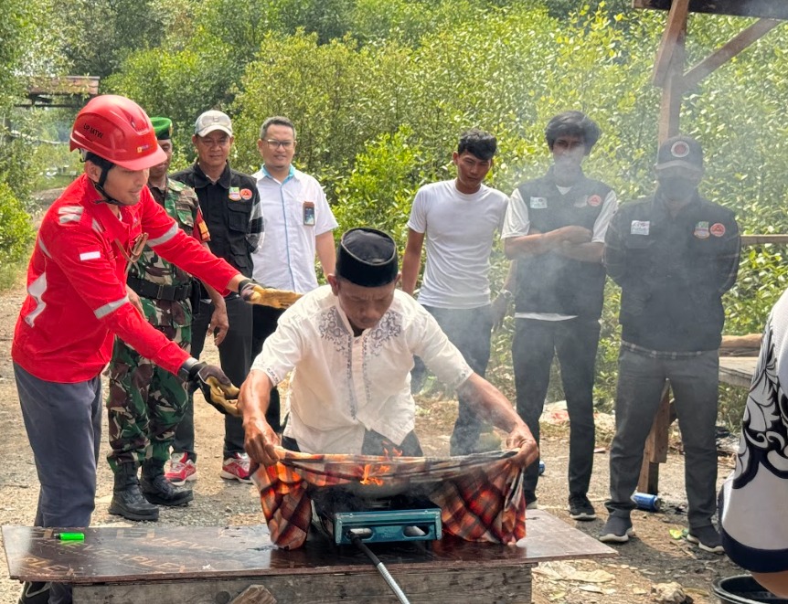
[[[323,537],[301,549],[272,545],[257,526],[147,526],[83,529],[84,541],[63,542],[58,529],[3,526],[11,578],[93,584],[174,578],[237,578],[337,573],[367,556]],[[313,531],[314,533],[314,531]],[[451,568],[532,565],[547,560],[615,556],[612,548],[542,510],[528,511],[527,537],[518,546],[477,544],[445,535],[441,541],[373,544],[387,567]]]

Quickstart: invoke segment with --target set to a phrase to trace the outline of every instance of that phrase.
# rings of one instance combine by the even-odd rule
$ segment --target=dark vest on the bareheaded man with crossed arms
[[[530,226],[541,233],[577,226],[593,230],[611,188],[582,176],[561,195],[552,169],[517,187],[528,208]],[[559,313],[597,319],[602,314],[602,264],[571,260],[554,252],[517,259],[517,313]]]

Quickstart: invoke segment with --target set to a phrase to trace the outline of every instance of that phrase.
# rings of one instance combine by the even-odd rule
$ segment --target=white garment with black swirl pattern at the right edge
[[[788,292],[772,308],[763,332],[736,470],[724,485],[722,544],[731,560],[753,572],[788,570],[786,387]]]

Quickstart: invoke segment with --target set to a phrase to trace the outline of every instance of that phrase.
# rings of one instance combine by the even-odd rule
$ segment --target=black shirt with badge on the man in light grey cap
[[[245,277],[251,277],[251,249],[247,240],[257,184],[250,175],[230,169],[229,164],[214,184],[197,164],[171,175],[197,191],[215,256],[227,260]]]

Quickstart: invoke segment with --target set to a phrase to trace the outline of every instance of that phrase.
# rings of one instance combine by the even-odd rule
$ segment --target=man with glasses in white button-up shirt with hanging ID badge
[[[334,272],[336,220],[314,177],[293,167],[295,126],[275,116],[262,122],[258,151],[262,167],[257,178],[265,237],[252,254],[254,279],[266,287],[306,293],[317,287],[314,257],[323,274]],[[283,311],[255,306],[251,358],[260,354],[262,343],[276,329]],[[271,394],[268,422],[281,431],[280,402],[276,388]]]

